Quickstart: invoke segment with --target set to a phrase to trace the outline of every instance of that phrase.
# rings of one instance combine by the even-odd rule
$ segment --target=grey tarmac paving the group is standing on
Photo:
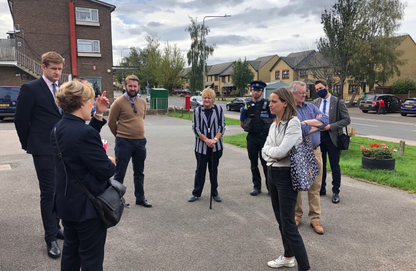
[[[209,181],[200,199],[187,202],[196,168],[190,121],[146,116],[145,123],[145,195],[153,207],[134,205],[130,164],[125,198],[132,205],[108,230],[104,270],[271,270],[267,261],[283,253],[282,241],[270,197],[249,195],[247,151],[225,147],[223,202],[210,210]],[[101,135],[113,156],[107,126]],[[12,167],[0,171],[0,270],[59,270],[60,260],[46,253],[33,161],[20,150],[11,120],[0,121],[0,138],[0,165]],[[316,234],[306,215],[299,227],[311,270],[416,270],[415,194],[343,176],[340,197],[337,205],[321,197],[325,234]]]

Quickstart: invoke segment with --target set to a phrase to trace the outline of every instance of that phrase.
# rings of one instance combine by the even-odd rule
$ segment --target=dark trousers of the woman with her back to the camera
[[[64,247],[61,271],[102,271],[107,229],[100,218],[82,222],[62,220]]]

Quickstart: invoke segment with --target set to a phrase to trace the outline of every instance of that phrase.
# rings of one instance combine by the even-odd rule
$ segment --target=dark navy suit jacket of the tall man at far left
[[[14,121],[23,150],[32,155],[52,155],[49,136],[61,117],[42,77],[22,85]]]

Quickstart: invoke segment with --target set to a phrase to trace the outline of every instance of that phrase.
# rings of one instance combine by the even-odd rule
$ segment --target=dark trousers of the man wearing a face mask
[[[329,165],[332,171],[332,193],[339,194],[339,187],[341,186],[341,169],[339,168],[339,157],[341,151],[336,147],[328,131],[321,131],[321,152],[322,152],[322,185],[321,191],[326,190],[326,155],[329,157]]]

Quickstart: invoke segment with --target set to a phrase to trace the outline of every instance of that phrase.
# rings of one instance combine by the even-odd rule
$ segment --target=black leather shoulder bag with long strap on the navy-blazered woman
[[[98,196],[94,197],[90,191],[81,183],[77,178],[75,173],[69,168],[64,161],[64,157],[59,149],[58,139],[56,136],[56,127],[54,128],[55,142],[58,149],[58,157],[62,160],[64,164],[64,169],[69,169],[71,174],[74,176],[77,183],[84,190],[85,194],[92,200],[95,208],[97,209],[98,217],[100,217],[103,225],[106,229],[111,228],[117,225],[120,222],[121,215],[123,214],[124,208],[129,208],[126,204],[126,201],[123,198],[124,193],[126,193],[126,187],[121,183],[117,182],[113,178],[108,180],[108,186],[106,190],[101,192]]]

